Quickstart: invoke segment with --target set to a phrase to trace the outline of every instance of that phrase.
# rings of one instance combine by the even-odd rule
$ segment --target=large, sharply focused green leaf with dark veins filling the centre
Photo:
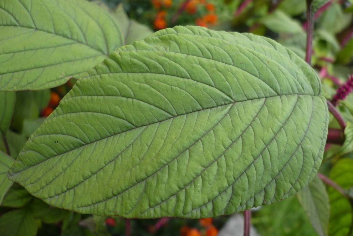
[[[10,179],[97,215],[203,218],[271,204],[321,164],[320,92],[313,69],[268,38],[161,30],[78,80]]]

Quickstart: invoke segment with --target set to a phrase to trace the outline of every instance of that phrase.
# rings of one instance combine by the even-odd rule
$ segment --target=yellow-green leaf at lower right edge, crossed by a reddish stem
[[[353,160],[343,158],[338,161],[330,172],[331,180],[342,188],[353,186]],[[332,187],[327,190],[330,198],[330,236],[352,236],[353,232],[353,207],[349,201]]]

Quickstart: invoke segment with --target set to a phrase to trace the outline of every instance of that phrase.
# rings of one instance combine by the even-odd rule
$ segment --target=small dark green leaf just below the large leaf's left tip
[[[26,189],[18,183],[14,183],[11,188],[8,189],[4,199],[2,200],[1,206],[23,207],[32,199],[33,196],[29,194]]]

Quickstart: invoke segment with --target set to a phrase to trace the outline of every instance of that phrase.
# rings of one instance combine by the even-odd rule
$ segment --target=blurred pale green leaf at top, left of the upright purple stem
[[[276,33],[298,34],[304,32],[297,20],[289,17],[281,10],[276,10],[263,17],[260,22]]]

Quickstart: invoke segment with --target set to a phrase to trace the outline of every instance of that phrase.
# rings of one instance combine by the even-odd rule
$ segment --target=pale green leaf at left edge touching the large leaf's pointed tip
[[[0,205],[7,190],[13,184],[12,181],[8,180],[7,173],[14,161],[15,160],[12,157],[0,151]]]

